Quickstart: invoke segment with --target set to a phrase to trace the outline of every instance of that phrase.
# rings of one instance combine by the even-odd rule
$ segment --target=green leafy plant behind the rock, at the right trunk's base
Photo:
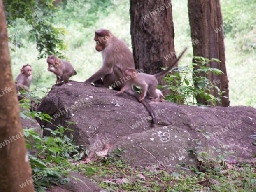
[[[206,99],[207,102],[216,105],[220,102],[220,97],[223,94],[216,85],[207,78],[207,74],[214,73],[217,75],[222,74],[221,70],[210,68],[207,64],[210,61],[219,62],[216,59],[205,59],[203,57],[194,57],[197,63],[193,63],[187,66],[181,66],[179,69],[174,70],[176,73],[168,75],[164,78],[167,84],[165,86],[172,90],[172,93],[166,96],[165,99],[177,102],[185,103],[187,105],[196,105],[196,97],[200,96],[202,99]],[[205,76],[199,76],[200,73],[204,73]],[[174,82],[174,83],[173,83]],[[218,91],[219,97],[214,97],[212,90]]]

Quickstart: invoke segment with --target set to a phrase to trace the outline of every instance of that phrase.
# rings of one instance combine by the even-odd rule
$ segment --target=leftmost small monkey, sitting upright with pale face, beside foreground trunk
[[[20,69],[20,73],[16,77],[16,91],[26,90],[29,91],[32,81],[32,67],[29,64],[23,65]]]

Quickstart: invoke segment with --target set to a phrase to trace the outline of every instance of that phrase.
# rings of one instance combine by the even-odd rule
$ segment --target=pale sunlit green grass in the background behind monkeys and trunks
[[[78,72],[77,76],[71,78],[72,80],[85,81],[101,66],[101,53],[94,49],[94,30],[110,29],[131,49],[129,2],[124,0],[105,2],[102,5],[94,5],[95,3],[91,5],[90,2],[82,2],[82,5],[74,3],[69,6],[69,12],[60,10],[56,12],[56,18],[53,19],[56,26],[64,27],[68,31],[64,37],[68,45],[64,55],[69,58]],[[256,94],[253,89],[256,83],[253,62],[256,59],[256,11],[253,4],[256,5],[255,0],[221,1],[224,26],[226,26],[224,28],[226,68],[232,106],[256,107]],[[101,9],[104,5],[105,8]],[[180,64],[184,65],[192,61],[187,1],[173,1],[172,6],[175,50],[181,52],[185,46],[190,47],[186,57],[180,61]],[[35,77],[31,90],[36,87],[36,84],[51,87],[55,84],[55,76],[47,71],[46,59],[37,60],[35,43],[29,41],[28,30],[29,28],[24,26],[22,21],[15,28],[8,30],[11,36],[18,34],[24,45],[24,48],[16,48],[15,52],[11,52],[14,78],[18,75],[21,66],[29,63],[33,67]],[[39,92],[36,94],[40,95]]]

